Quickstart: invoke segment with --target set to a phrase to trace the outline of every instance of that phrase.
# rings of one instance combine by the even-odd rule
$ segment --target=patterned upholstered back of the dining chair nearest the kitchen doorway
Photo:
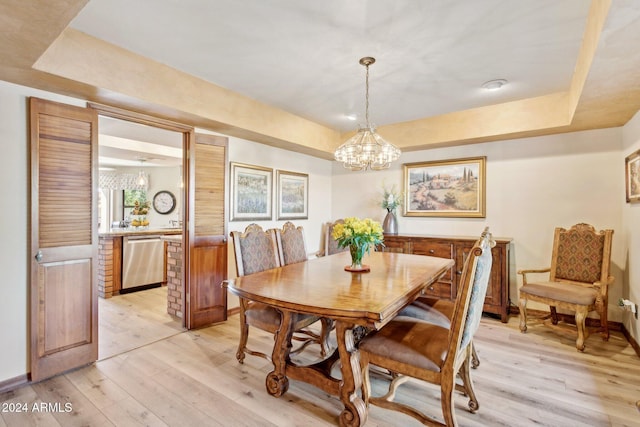
[[[275,230],[250,224],[244,232],[232,231],[231,238],[238,276],[280,267]]]

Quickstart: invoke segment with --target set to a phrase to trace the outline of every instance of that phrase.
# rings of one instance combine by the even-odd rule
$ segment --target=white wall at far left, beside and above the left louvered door
[[[28,96],[83,104],[75,99],[0,81],[0,382],[24,375],[29,370]]]

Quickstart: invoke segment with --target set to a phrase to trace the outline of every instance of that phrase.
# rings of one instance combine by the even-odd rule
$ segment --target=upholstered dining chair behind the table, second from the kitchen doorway
[[[291,221],[287,221],[282,226],[282,229],[276,228],[275,233],[278,254],[282,265],[295,264],[308,259],[304,229],[301,226],[296,227]],[[320,334],[315,334],[309,329],[301,332],[319,341],[320,355],[324,357],[330,350],[329,334],[334,329],[334,322],[329,318],[322,317],[320,318],[320,323]]]

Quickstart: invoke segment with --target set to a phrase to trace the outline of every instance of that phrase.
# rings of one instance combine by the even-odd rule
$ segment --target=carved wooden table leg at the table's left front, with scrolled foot
[[[289,379],[287,378],[287,362],[291,352],[291,337],[293,336],[294,313],[282,311],[282,322],[280,329],[276,332],[273,344],[273,371],[267,375],[267,392],[275,397],[280,397],[289,389]]]

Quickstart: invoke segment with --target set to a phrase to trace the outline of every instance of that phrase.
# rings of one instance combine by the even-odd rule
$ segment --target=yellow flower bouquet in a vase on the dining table
[[[351,269],[365,270],[362,257],[369,253],[371,247],[380,245],[384,241],[382,226],[370,218],[360,219],[348,217],[344,223],[338,223],[331,234],[341,248],[349,248],[351,252]]]

